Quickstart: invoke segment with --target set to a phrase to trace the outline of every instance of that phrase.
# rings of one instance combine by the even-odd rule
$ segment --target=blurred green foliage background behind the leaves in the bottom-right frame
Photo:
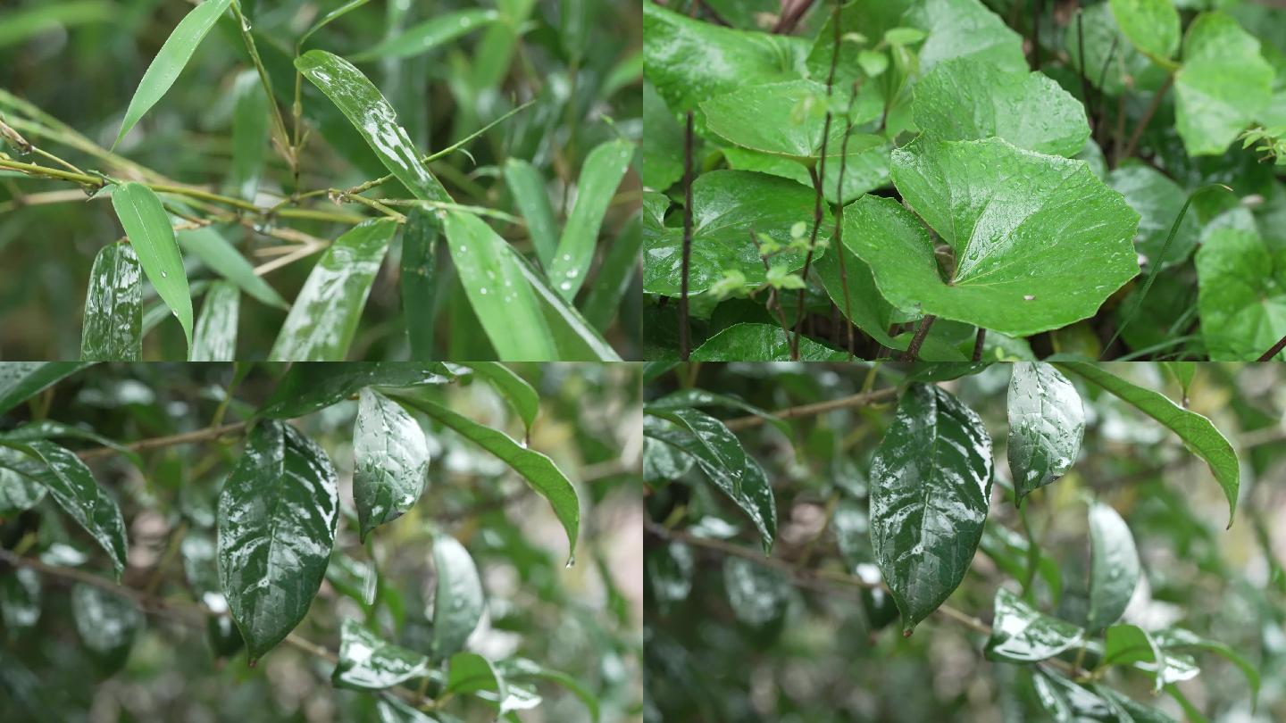
[[[1184,396],[1156,364],[1103,367],[1175,403]],[[691,383],[772,410],[895,386],[919,371],[898,364],[705,364],[694,373],[679,367],[657,374],[647,382],[646,398]],[[1205,463],[1169,430],[1080,380],[1074,380],[1087,419],[1080,458],[1069,475],[1028,498],[1025,530],[999,484],[1008,480],[1008,365],[995,364],[943,382],[986,423],[998,480],[983,544],[948,605],[990,623],[995,589],[1021,581],[1026,540],[1035,539],[1042,551],[1033,579],[1038,607],[1080,619],[1089,554],[1085,502],[1097,498],[1127,520],[1143,563],[1124,621],[1150,630],[1186,628],[1231,646],[1259,669],[1263,684],[1253,710],[1241,672],[1199,654],[1200,675],[1177,684],[1195,708],[1187,719],[1286,719],[1286,367],[1196,367],[1188,405],[1210,417],[1241,457],[1231,530],[1224,530],[1228,504]],[[773,485],[773,558],[822,575],[873,567],[867,475],[894,404],[790,419],[787,432],[774,425],[737,432]],[[746,414],[706,410],[724,418]],[[700,471],[670,481],[655,473],[661,467],[644,463],[649,520],[714,545],[759,551],[754,527]],[[651,533],[644,556],[647,720],[1053,719],[1037,701],[1029,666],[984,660],[985,636],[943,615],[903,638],[896,607],[880,590],[792,579]],[[1150,675],[1114,670],[1102,682],[1184,719],[1170,696],[1152,695]]]

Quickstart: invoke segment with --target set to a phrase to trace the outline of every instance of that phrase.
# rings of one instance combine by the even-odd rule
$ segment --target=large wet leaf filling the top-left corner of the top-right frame
[[[747,85],[799,80],[808,48],[801,37],[724,28],[643,4],[643,73],[675,113]]]

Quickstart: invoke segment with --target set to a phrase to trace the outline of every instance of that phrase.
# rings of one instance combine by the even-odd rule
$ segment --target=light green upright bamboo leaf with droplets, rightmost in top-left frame
[[[633,158],[633,143],[610,140],[590,151],[581,166],[580,180],[576,183],[576,205],[567,216],[558,250],[548,266],[549,279],[563,298],[575,298],[585,283],[603,216]]]

